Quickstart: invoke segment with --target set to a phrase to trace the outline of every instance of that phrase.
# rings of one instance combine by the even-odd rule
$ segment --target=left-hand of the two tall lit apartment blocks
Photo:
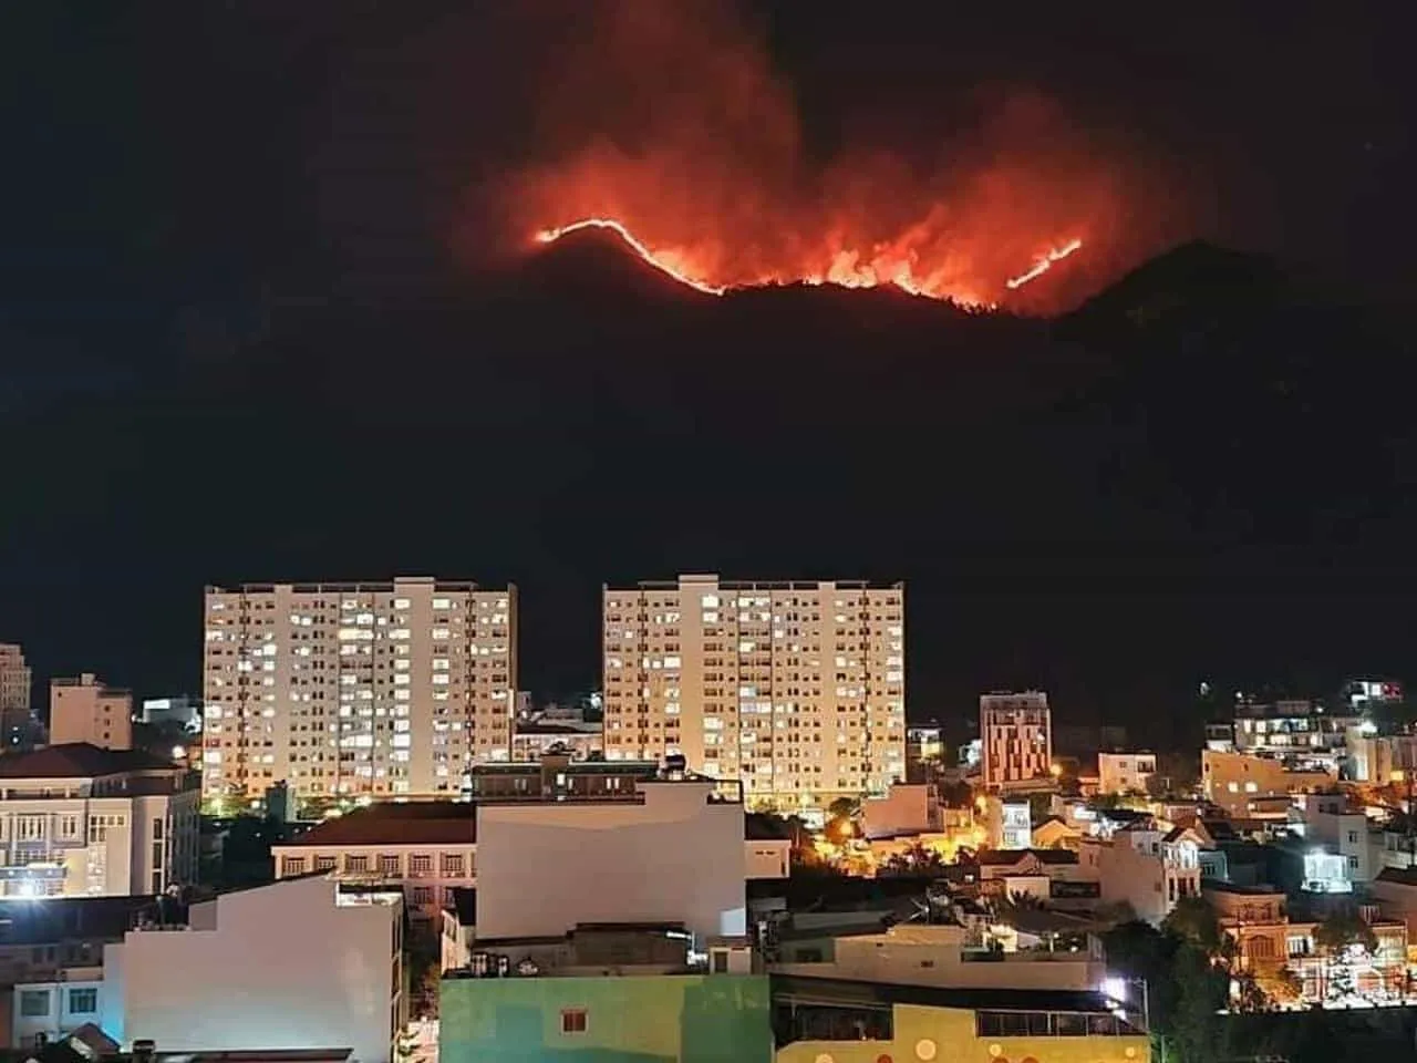
[[[203,792],[458,794],[512,755],[516,588],[208,587]]]

